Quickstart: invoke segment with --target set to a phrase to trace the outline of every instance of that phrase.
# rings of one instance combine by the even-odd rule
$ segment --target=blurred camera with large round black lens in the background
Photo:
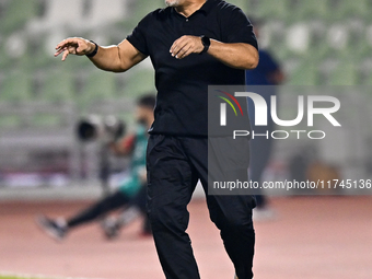
[[[78,138],[83,142],[98,140],[112,143],[121,138],[125,131],[125,123],[115,116],[90,115],[77,125]]]

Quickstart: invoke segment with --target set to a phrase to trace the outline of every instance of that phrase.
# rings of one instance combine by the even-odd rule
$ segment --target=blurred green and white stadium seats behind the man
[[[264,20],[260,45],[282,61],[289,84],[372,84],[372,1],[230,2]],[[0,0],[0,103],[18,107],[18,112],[33,102],[51,108],[69,106],[78,118],[101,101],[105,106],[118,100],[132,102],[139,94],[154,91],[149,63],[127,74],[103,73],[86,58],[62,63],[53,53],[66,36],[117,44],[143,15],[163,5],[163,0]],[[117,113],[128,119],[128,111]],[[0,127],[15,129],[23,120],[3,114]],[[60,130],[58,117],[35,116],[27,121]]]

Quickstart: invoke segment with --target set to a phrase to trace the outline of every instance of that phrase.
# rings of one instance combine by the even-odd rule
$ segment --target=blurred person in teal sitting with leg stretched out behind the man
[[[96,201],[89,208],[81,210],[71,218],[50,219],[46,216],[37,218],[38,226],[55,240],[62,240],[70,230],[82,224],[102,220],[108,212],[125,208],[116,218],[105,218],[102,228],[105,235],[112,239],[117,235],[120,228],[138,216],[144,217],[143,234],[151,234],[151,229],[146,213],[147,199],[147,171],[146,151],[148,144],[148,129],[153,123],[154,95],[144,95],[137,102],[136,120],[137,129],[131,136],[123,138],[112,144],[112,150],[117,155],[130,155],[129,175],[121,181],[119,187],[112,195]]]

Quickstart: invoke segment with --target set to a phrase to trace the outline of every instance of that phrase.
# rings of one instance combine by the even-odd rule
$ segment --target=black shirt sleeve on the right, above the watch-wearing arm
[[[246,43],[258,49],[256,35],[248,18],[237,7],[230,7],[229,10],[226,23],[223,26],[225,43]]]

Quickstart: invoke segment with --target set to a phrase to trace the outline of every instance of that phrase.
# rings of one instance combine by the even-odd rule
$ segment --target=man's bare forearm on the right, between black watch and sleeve
[[[258,65],[258,51],[248,44],[224,44],[211,39],[208,54],[224,65],[236,69],[254,69]]]

